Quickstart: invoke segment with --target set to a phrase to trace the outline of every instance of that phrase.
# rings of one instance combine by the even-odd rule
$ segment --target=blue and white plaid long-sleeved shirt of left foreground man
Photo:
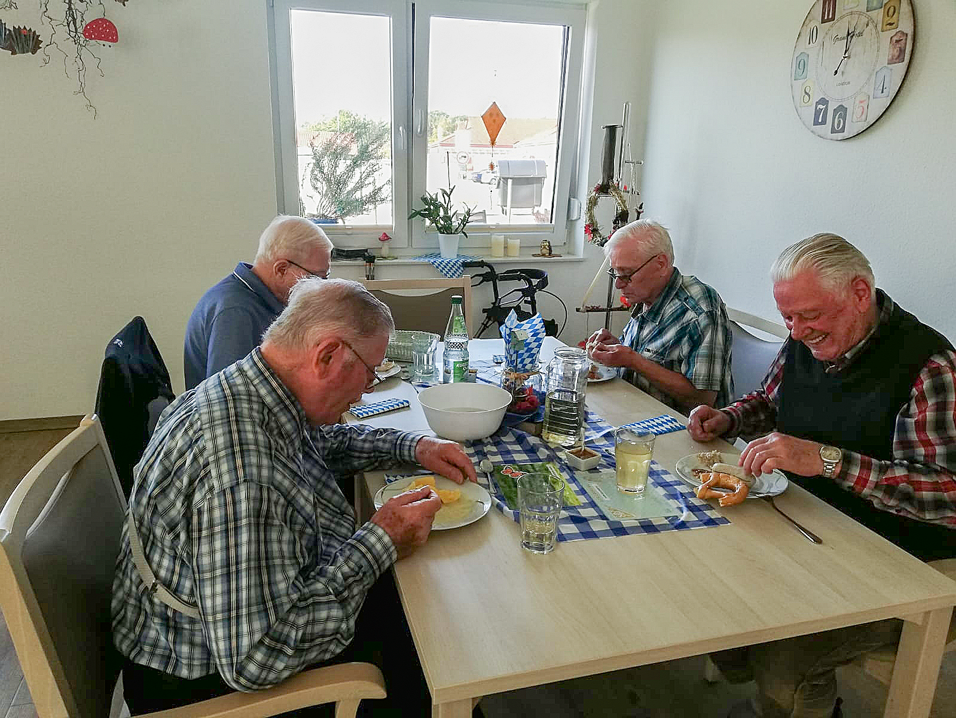
[[[112,606],[120,653],[182,678],[218,671],[245,691],[336,656],[396,559],[379,526],[356,530],[336,476],[414,461],[420,438],[308,424],[258,348],[183,394],[146,447],[129,504],[149,566],[202,619],[149,594],[124,525]]]

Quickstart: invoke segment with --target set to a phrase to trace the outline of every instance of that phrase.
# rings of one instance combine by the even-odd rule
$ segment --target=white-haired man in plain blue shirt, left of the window
[[[252,264],[240,262],[203,294],[185,328],[185,388],[242,359],[289,300],[303,277],[326,279],[332,242],[315,223],[279,215],[259,237]]]

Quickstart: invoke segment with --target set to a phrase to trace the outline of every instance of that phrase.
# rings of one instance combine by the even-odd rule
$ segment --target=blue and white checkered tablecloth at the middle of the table
[[[601,464],[592,471],[597,473],[601,469],[614,468],[614,437],[608,437],[606,433],[600,433],[601,429],[610,428],[610,425],[590,411],[587,418],[588,433],[596,435],[587,444],[595,448],[602,456]],[[706,501],[698,499],[684,482],[657,462],[651,462],[651,482],[668,501],[674,503],[681,511],[680,514],[677,516],[642,518],[633,521],[618,521],[608,519],[588,492],[581,488],[576,474],[588,472],[568,466],[554,447],[549,446],[538,437],[509,426],[502,426],[488,439],[468,442],[465,451],[476,466],[485,458],[489,459],[496,468],[502,468],[509,464],[555,462],[561,468],[561,473],[568,480],[575,491],[575,495],[580,500],[580,506],[565,507],[561,513],[557,523],[557,540],[559,541],[625,536],[633,533],[683,531],[685,529],[700,529],[730,523],[727,518],[714,511]],[[385,480],[395,481],[405,475],[407,474],[386,474]],[[483,477],[481,483],[485,483]],[[515,522],[518,521],[518,512],[509,508],[500,494],[495,493],[492,500],[498,511],[506,516],[511,516]]]

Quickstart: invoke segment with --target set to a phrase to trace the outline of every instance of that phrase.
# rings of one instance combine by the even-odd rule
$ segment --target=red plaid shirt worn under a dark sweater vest
[[[893,300],[885,296],[878,325],[889,318],[893,307]],[[876,329],[831,365],[836,370],[847,366]],[[730,417],[726,437],[763,436],[774,430],[791,341],[787,339],[780,348],[763,388],[723,409]],[[878,509],[956,529],[956,353],[946,351],[926,359],[913,383],[909,403],[897,415],[893,460],[878,461],[844,450],[834,480],[869,499]],[[901,491],[903,483],[912,490]]]

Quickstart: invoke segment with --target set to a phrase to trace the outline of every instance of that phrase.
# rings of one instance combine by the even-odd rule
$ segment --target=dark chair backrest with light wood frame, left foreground
[[[86,417],[0,512],[0,608],[40,716],[110,715],[121,667],[110,597],[125,511],[102,427]]]

